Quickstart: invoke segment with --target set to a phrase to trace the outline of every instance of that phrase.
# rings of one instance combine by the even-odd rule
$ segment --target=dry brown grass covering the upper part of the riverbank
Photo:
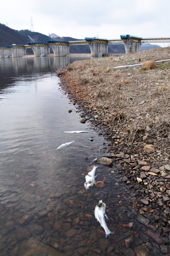
[[[170,59],[170,48],[75,61],[66,66],[65,71],[65,74],[69,73],[65,75],[66,82],[69,77],[73,88],[86,90],[87,93],[81,95],[82,101],[93,99],[93,104],[88,107],[97,107],[97,114],[102,116],[100,124],[106,120],[111,129],[121,127],[127,132],[127,141],[138,140],[145,133],[153,138],[170,135],[170,65],[161,64],[152,70],[113,69],[128,61],[138,64],[139,58],[141,63]],[[110,72],[106,72],[108,67]],[[108,105],[105,111],[104,104]],[[138,117],[132,118],[133,114]],[[150,131],[147,131],[148,127]]]

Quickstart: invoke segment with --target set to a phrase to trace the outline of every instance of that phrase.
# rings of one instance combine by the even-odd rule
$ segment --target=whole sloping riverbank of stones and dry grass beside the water
[[[104,157],[119,167],[119,182],[131,190],[139,222],[153,231],[148,232],[148,236],[161,245],[161,252],[165,254],[170,252],[170,116],[168,111],[165,113],[165,109],[170,109],[170,65],[118,72],[113,71],[113,67],[130,60],[136,64],[169,58],[169,48],[154,49],[129,56],[77,61],[57,72],[62,90],[81,112],[80,121],[90,122],[108,141],[104,145]],[[101,86],[106,88],[108,81],[115,94],[110,92],[112,89],[102,91]],[[130,88],[133,89],[131,95],[128,94]],[[141,88],[146,90],[145,94]],[[123,96],[118,98],[120,92],[126,94],[128,102],[121,101]],[[135,103],[131,102],[134,98]]]

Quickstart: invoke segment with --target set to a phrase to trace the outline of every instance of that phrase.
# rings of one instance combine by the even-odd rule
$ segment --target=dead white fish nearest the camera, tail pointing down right
[[[101,207],[99,207],[99,205],[102,204]],[[109,236],[110,234],[113,234],[113,232],[111,232],[106,224],[105,221],[105,217],[108,219],[106,213],[105,213],[105,209],[106,209],[106,204],[102,202],[102,200],[99,200],[99,204],[96,205],[95,210],[94,210],[94,215],[95,218],[97,219],[97,221],[100,222],[100,225],[102,226],[102,228],[104,228],[105,230],[105,237]]]

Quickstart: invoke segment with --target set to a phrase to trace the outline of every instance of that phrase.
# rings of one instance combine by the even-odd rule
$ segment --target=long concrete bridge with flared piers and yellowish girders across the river
[[[64,57],[69,54],[71,45],[88,44],[91,57],[98,57],[99,53],[108,53],[108,44],[124,44],[125,52],[138,52],[142,42],[170,42],[170,38],[140,38],[138,36],[121,35],[121,39],[85,38],[81,41],[47,41],[47,43],[31,42],[28,45],[15,45],[0,47],[0,58],[20,58],[26,55],[26,50],[31,48],[34,57]],[[50,54],[53,50],[53,55]]]

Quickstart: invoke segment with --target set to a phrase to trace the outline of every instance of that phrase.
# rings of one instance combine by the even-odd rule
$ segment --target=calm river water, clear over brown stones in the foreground
[[[137,221],[119,169],[100,165],[96,181],[105,186],[85,190],[85,175],[107,142],[80,123],[60,89],[54,70],[72,61],[0,59],[0,255],[128,256],[147,242],[150,255],[164,255]],[[71,130],[87,132],[65,133]],[[114,232],[107,239],[93,213],[100,199]]]

